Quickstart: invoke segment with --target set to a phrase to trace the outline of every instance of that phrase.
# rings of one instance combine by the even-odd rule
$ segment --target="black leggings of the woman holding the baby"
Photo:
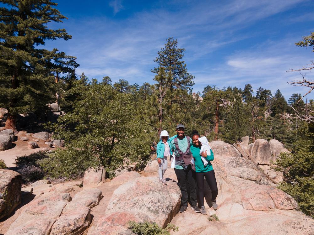
[[[198,187],[198,199],[201,206],[204,206],[204,177],[212,191],[212,201],[216,200],[218,187],[214,170],[207,172],[196,172],[196,183]]]

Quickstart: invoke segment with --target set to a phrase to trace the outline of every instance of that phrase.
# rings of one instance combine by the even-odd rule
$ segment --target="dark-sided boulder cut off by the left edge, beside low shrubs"
[[[13,170],[0,169],[0,219],[21,203],[22,177]]]

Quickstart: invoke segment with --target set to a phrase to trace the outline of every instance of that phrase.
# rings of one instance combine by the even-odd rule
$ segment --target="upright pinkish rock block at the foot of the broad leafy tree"
[[[106,180],[106,170],[104,166],[98,169],[89,168],[84,173],[83,189],[95,188]]]

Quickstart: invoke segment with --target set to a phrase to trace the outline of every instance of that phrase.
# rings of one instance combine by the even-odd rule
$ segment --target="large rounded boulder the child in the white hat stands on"
[[[156,177],[140,177],[117,188],[108,204],[106,214],[138,212],[165,227],[179,209],[181,191],[173,181],[160,184]],[[162,206],[161,206],[162,205]]]

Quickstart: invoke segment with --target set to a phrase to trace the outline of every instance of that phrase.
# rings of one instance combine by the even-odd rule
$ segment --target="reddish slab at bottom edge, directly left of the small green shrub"
[[[89,228],[88,235],[102,234],[126,234],[133,235],[134,233],[128,229],[129,221],[135,222],[154,222],[146,214],[141,212],[123,211],[112,214],[105,214],[100,217],[94,227]]]

